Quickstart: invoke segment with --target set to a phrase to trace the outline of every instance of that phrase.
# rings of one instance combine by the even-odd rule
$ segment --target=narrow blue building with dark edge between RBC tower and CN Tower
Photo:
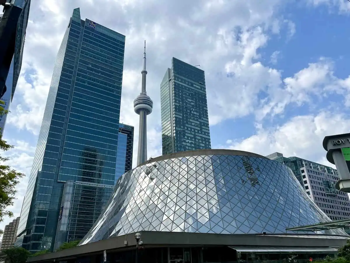
[[[131,170],[132,153],[134,144],[134,127],[119,123],[117,162],[116,162],[116,179]]]

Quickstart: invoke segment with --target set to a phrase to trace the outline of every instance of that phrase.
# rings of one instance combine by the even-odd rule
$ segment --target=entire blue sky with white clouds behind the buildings
[[[4,132],[16,146],[10,165],[28,176],[56,53],[76,7],[82,18],[126,35],[120,116],[136,127],[135,149],[132,101],[147,41],[149,157],[161,154],[160,82],[173,56],[205,70],[212,148],[279,151],[330,165],[323,137],[350,130],[346,0],[36,0]]]

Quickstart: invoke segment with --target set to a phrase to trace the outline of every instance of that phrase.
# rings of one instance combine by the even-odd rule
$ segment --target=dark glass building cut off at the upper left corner
[[[4,99],[9,89],[12,100],[22,66],[30,0],[2,0],[1,4],[4,14],[0,19],[0,98]]]

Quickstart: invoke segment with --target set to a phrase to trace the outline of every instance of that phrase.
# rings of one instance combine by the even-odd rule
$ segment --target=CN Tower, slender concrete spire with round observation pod
[[[139,149],[137,151],[137,165],[147,161],[147,115],[151,114],[153,101],[146,93],[146,40],[144,49],[144,67],[142,68],[141,93],[134,100],[134,110],[140,115]]]

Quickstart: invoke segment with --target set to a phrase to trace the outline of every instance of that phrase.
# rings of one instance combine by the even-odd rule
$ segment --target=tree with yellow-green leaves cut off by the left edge
[[[5,104],[0,101],[0,116],[7,114],[8,110],[5,110],[1,104]],[[13,145],[8,144],[5,140],[0,137],[0,149],[3,151],[8,151],[12,149]],[[12,169],[10,166],[6,165],[8,157],[2,157],[0,155],[0,222],[3,221],[4,216],[12,217],[13,213],[6,208],[13,205],[15,200],[15,194],[17,193],[16,185],[20,182],[19,179],[25,176],[22,173],[18,173],[16,170]],[[0,234],[3,231],[0,229]]]

